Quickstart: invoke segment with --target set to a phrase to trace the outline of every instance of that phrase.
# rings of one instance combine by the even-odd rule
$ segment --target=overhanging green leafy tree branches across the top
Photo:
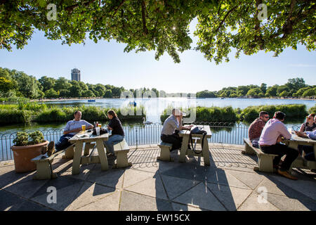
[[[22,49],[37,29],[63,44],[115,39],[124,51],[153,50],[157,60],[166,52],[179,63],[179,53],[192,49],[188,27],[197,18],[195,50],[207,60],[228,61],[232,49],[236,57],[277,56],[297,44],[315,50],[315,8],[309,0],[0,0],[0,49]]]

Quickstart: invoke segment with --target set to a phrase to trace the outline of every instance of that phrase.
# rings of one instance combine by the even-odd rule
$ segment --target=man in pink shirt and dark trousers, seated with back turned
[[[259,146],[263,153],[278,155],[273,160],[274,167],[279,165],[279,161],[283,155],[287,155],[282,162],[282,165],[279,169],[277,169],[277,173],[289,179],[296,180],[297,178],[289,174],[287,170],[289,170],[292,162],[294,162],[294,160],[298,157],[298,150],[289,148],[288,146],[279,143],[282,137],[284,137],[284,139],[291,139],[291,134],[287,130],[287,127],[283,124],[284,119],[284,113],[279,111],[275,112],[273,119],[269,120],[265,124],[265,127],[263,127],[263,131],[259,139]]]

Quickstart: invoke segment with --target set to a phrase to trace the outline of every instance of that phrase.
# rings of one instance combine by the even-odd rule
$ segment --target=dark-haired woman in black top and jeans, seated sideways
[[[109,137],[107,141],[103,141],[105,148],[107,148],[107,152],[110,152],[112,155],[114,153],[114,143],[119,143],[124,139],[124,130],[121,127],[121,121],[117,117],[117,114],[114,110],[107,111],[107,117],[110,119],[110,123],[107,125],[107,129],[112,130],[112,135]]]

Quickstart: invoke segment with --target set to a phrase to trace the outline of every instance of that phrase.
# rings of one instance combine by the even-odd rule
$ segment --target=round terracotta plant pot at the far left
[[[15,172],[23,173],[37,169],[37,165],[31,160],[41,155],[41,147],[47,146],[48,143],[49,141],[45,141],[32,146],[12,146]]]

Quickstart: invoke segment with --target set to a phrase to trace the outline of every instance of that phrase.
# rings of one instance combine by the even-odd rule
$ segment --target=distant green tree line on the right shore
[[[250,97],[312,97],[316,96],[316,85],[305,84],[303,78],[288,79],[283,85],[261,86],[250,84],[246,86],[229,86],[220,91],[199,91],[197,98],[237,98],[242,96]]]

